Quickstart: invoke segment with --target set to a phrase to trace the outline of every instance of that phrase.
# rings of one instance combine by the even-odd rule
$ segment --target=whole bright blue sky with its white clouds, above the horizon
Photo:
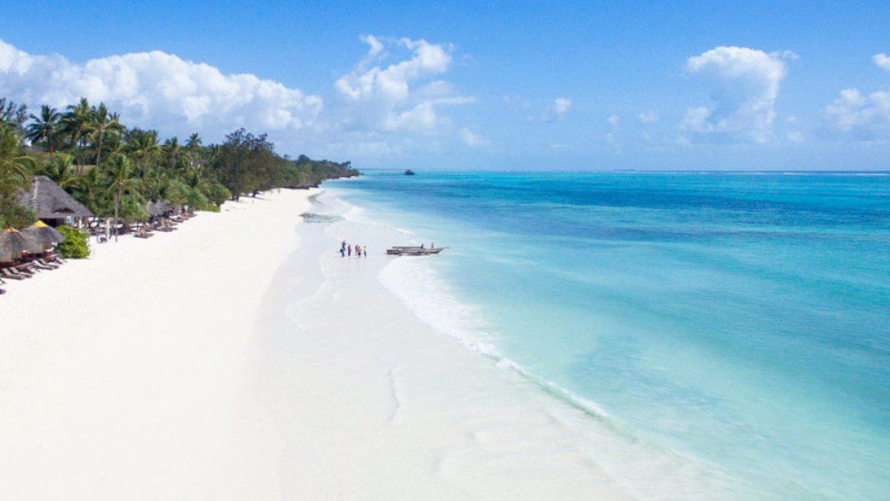
[[[886,2],[7,0],[0,94],[363,167],[890,169],[887,26]]]

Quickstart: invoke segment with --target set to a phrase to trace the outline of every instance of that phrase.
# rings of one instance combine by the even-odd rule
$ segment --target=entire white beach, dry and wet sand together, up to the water
[[[696,465],[422,321],[381,284],[422,262],[367,224],[297,225],[310,194],[9,284],[0,497],[705,497]],[[344,233],[372,255],[341,259]]]

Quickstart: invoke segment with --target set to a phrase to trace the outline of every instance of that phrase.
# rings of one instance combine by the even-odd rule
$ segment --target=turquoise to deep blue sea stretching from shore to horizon
[[[890,175],[369,172],[332,186],[498,350],[764,497],[890,496]],[[393,242],[395,244],[395,242]]]

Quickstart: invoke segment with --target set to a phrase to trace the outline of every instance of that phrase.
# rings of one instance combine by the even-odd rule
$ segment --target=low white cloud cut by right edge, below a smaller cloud
[[[890,91],[869,95],[859,89],[845,89],[825,109],[829,125],[858,141],[886,141],[890,138]]]

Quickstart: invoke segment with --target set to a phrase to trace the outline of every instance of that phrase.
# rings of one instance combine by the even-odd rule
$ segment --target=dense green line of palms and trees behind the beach
[[[148,202],[218,211],[228,199],[275,188],[309,188],[358,175],[350,162],[281,156],[266,134],[241,128],[220,144],[198,133],[161,141],[158,131],[127,127],[104,103],[28,113],[0,98],[0,228],[24,227],[35,214],[18,203],[32,175],[46,175],[100,217],[138,222]]]

